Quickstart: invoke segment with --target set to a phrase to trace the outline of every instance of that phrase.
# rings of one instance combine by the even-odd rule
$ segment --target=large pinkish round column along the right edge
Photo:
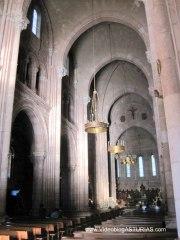
[[[164,97],[164,110],[169,140],[176,221],[180,236],[180,82],[176,65],[174,45],[167,13],[166,1],[146,0],[146,16],[151,44],[152,64],[159,59],[158,72]]]

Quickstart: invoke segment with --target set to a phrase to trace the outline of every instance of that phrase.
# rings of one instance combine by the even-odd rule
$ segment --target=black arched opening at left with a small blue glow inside
[[[33,144],[32,124],[24,111],[21,111],[12,126],[11,163],[7,187],[6,212],[10,216],[28,215],[32,208]]]

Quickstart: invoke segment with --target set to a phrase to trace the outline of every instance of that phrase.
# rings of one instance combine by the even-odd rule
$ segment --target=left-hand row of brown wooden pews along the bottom
[[[122,210],[94,213],[86,217],[61,218],[53,220],[34,220],[6,222],[0,225],[0,240],[56,240],[63,236],[72,236],[73,232],[83,231],[87,227],[122,214]]]

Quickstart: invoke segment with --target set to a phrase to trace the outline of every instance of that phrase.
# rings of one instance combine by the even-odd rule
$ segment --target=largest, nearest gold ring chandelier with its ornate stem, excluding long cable
[[[95,89],[95,78],[94,78],[94,90],[93,90],[93,96],[91,99],[90,121],[85,124],[85,131],[87,133],[97,134],[97,133],[107,132],[108,124],[104,122],[100,122],[98,120],[97,102],[98,102],[98,94]]]

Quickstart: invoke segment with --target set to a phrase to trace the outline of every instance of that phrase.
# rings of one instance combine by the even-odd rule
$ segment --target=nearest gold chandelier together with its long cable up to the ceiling
[[[92,0],[92,14],[94,16],[93,0]],[[91,110],[90,110],[90,121],[85,124],[85,131],[87,133],[97,134],[107,132],[108,124],[100,122],[98,120],[98,93],[96,90],[96,79],[95,79],[95,63],[94,63],[94,27],[93,27],[93,65],[94,65],[94,78],[93,78],[93,94],[91,98]]]

